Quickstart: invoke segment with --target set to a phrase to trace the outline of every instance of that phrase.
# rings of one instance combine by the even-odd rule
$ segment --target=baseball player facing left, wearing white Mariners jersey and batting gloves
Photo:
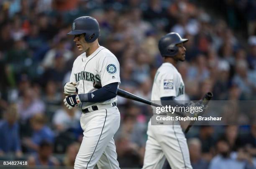
[[[100,27],[93,17],[78,17],[72,24],[74,42],[83,53],[74,61],[70,81],[64,86],[64,104],[82,109],[80,124],[84,137],[77,154],[75,169],[119,169],[113,136],[120,125],[116,107],[120,85],[119,62],[115,55],[98,43]],[[102,88],[94,88],[93,82]],[[76,89],[78,92],[76,93]]]

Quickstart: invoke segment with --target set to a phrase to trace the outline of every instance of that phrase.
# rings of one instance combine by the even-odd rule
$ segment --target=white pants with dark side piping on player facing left
[[[84,137],[74,169],[120,169],[115,151],[114,134],[120,125],[117,107],[82,114],[80,124]]]

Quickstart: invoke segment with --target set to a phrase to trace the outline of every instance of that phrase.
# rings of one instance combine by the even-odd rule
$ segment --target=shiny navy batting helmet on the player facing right
[[[175,56],[179,51],[176,45],[187,41],[188,39],[182,39],[178,33],[171,32],[161,37],[158,48],[162,56]]]

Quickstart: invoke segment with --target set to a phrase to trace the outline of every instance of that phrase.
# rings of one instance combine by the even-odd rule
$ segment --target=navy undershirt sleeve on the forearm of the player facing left
[[[118,82],[110,83],[91,93],[78,94],[81,102],[104,102],[116,97]]]

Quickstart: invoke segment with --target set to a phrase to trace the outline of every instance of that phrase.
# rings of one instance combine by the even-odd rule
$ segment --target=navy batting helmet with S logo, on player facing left
[[[90,16],[78,17],[72,24],[72,31],[67,35],[79,35],[85,33],[86,42],[93,42],[100,36],[100,26],[97,20]]]

